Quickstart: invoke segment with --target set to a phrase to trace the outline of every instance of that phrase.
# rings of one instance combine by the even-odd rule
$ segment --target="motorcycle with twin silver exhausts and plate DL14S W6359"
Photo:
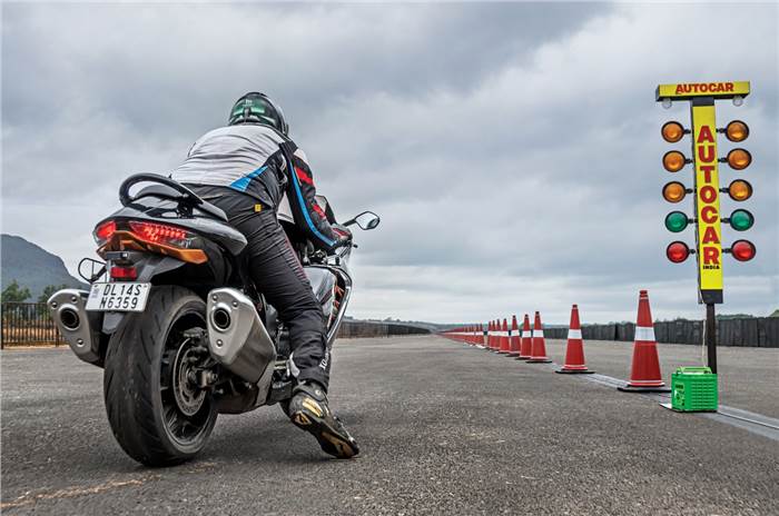
[[[138,183],[149,185],[132,195]],[[79,264],[89,290],[59,290],[48,306],[76,356],[103,369],[108,421],[121,448],[148,466],[175,465],[203,449],[219,414],[275,404],[288,410],[289,336],[248,279],[246,238],[221,209],[151,173],[125,180],[119,200],[93,231],[105,262]],[[316,200],[335,222],[327,200]],[[315,250],[295,234],[284,204],[278,217],[322,305],[329,348],[352,294],[348,260],[357,246]],[[379,220],[364,211],[344,226],[369,230]]]

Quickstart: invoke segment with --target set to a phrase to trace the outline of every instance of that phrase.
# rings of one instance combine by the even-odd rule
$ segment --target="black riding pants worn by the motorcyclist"
[[[293,374],[298,380],[317,381],[326,390],[329,351],[325,344],[325,317],[275,210],[230,188],[191,188],[221,208],[230,226],[246,237],[249,276],[289,329]]]

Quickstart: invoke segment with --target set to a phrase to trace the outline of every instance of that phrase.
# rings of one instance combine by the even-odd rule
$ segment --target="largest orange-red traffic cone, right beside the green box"
[[[654,340],[654,325],[647,290],[639,292],[639,316],[635,321],[634,340],[630,381],[617,388],[625,393],[670,393],[671,389],[665,387],[660,373],[658,343]]]

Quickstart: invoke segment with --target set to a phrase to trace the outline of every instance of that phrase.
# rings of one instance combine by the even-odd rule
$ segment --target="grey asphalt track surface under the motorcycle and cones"
[[[599,347],[610,374],[617,348]],[[762,351],[772,380],[733,396],[776,403]],[[99,369],[3,351],[2,513],[779,514],[776,440],[443,338],[338,341],[331,400],[358,459],[328,459],[267,407],[220,417],[198,460],[149,469],[114,441]]]

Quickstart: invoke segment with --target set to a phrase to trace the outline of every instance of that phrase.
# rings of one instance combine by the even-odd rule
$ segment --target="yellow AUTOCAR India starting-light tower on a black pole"
[[[674,180],[663,186],[662,195],[673,204],[681,202],[688,194],[694,195],[694,218],[688,217],[684,211],[671,211],[665,216],[665,228],[671,232],[681,232],[693,224],[696,246],[690,249],[683,241],[676,240],[665,248],[665,256],[674,264],[684,261],[691,254],[697,257],[698,302],[706,305],[706,340],[712,373],[717,373],[714,305],[723,300],[722,256],[730,254],[738,261],[748,261],[756,252],[755,245],[745,239],[733,241],[729,248],[722,248],[721,222],[729,224],[736,231],[746,231],[753,226],[755,217],[746,209],[736,209],[730,217],[721,217],[720,194],[728,194],[732,200],[741,202],[751,197],[752,186],[743,179],[733,179],[728,188],[720,189],[719,163],[728,163],[731,169],[740,171],[749,167],[752,156],[748,150],[737,147],[729,150],[726,157],[718,157],[717,135],[723,133],[729,141],[739,143],[749,136],[749,127],[741,120],[733,120],[724,128],[717,129],[714,102],[730,99],[734,106],[741,106],[748,95],[749,82],[746,81],[660,85],[655,91],[655,100],[665,108],[678,100],[690,102],[691,129],[686,129],[678,121],[669,121],[660,132],[669,143],[677,143],[684,136],[690,136],[691,158],[680,150],[669,150],[663,155],[662,165],[669,172],[677,173],[692,163],[692,188]]]

